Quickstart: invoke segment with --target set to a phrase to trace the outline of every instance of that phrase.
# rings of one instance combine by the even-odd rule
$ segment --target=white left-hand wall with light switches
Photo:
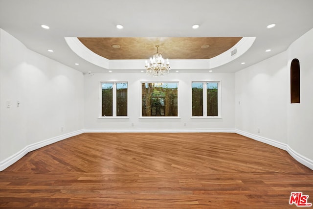
[[[82,130],[83,112],[83,74],[27,49],[0,29],[0,170],[45,140]]]

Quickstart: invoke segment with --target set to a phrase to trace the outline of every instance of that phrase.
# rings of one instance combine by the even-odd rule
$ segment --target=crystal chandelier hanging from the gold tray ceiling
[[[145,69],[147,74],[153,76],[162,76],[170,72],[170,63],[168,59],[165,61],[162,54],[158,53],[159,45],[156,45],[156,53],[150,58],[150,63],[146,61]]]

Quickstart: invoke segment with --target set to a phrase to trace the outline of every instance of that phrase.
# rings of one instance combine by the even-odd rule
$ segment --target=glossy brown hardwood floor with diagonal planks
[[[313,170],[230,133],[86,133],[0,172],[0,208],[290,209]]]

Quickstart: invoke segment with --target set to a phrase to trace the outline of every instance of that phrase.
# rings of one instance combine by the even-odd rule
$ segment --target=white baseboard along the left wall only
[[[83,130],[67,133],[61,136],[53,137],[51,139],[46,139],[37,143],[29,144],[25,146],[22,150],[15,153],[14,155],[8,157],[7,159],[4,159],[0,162],[0,171],[4,170],[5,168],[9,167],[13,163],[16,163],[18,160],[20,160],[24,155],[26,155],[28,152],[34,151],[36,149],[42,148],[46,145],[61,141],[63,139],[67,139],[70,137],[74,137],[76,135],[84,133]]]

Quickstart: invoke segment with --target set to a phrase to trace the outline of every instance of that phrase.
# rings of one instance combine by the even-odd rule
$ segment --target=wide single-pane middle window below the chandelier
[[[178,82],[142,82],[141,116],[178,116]]]

